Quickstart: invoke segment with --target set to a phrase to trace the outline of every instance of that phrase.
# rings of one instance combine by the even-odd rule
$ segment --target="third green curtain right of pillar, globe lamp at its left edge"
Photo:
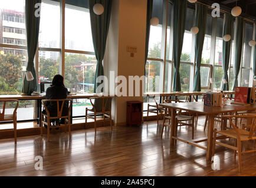
[[[202,61],[202,51],[205,40],[205,28],[207,18],[207,6],[202,4],[196,4],[196,20],[195,26],[199,28],[199,32],[195,35],[195,78],[193,82],[193,91],[201,91],[201,75],[200,67]]]

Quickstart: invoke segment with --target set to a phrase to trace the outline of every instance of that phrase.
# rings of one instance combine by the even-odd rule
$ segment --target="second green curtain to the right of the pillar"
[[[180,56],[182,52],[183,36],[185,32],[187,0],[175,0],[173,2],[173,91],[180,91]]]

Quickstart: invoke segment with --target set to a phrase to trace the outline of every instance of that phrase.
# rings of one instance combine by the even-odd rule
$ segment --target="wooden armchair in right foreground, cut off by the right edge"
[[[256,140],[256,134],[255,134],[255,129],[256,129],[256,115],[225,115],[223,116],[225,118],[229,119],[229,122],[232,126],[233,129],[229,130],[217,130],[214,129],[214,145],[212,147],[212,156],[214,156],[215,153],[215,145],[220,145],[227,147],[229,149],[235,150],[235,156],[237,155],[238,152],[238,164],[239,164],[239,172],[241,172],[242,169],[242,154],[244,153],[251,153],[251,152],[256,152],[256,150],[247,150],[245,152],[242,152],[242,141],[250,141],[250,140]],[[239,129],[235,124],[232,122],[232,118],[252,118],[252,124],[250,126],[250,131],[244,130],[244,129]],[[217,133],[219,135],[225,136],[225,138],[233,138],[236,139],[237,142],[235,142],[235,146],[231,146],[225,143],[221,142],[216,142],[216,135]]]

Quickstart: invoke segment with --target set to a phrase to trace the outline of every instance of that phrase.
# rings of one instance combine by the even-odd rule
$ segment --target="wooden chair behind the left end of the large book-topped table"
[[[165,100],[164,103],[172,103],[172,102],[181,102],[180,100],[172,100],[168,99]],[[163,136],[163,129],[165,126],[172,127],[173,125],[175,126],[175,136],[177,136],[177,129],[178,126],[191,126],[192,127],[192,139],[194,137],[194,122],[195,122],[195,117],[191,114],[189,115],[183,115],[182,110],[177,110],[178,114],[175,116],[175,122],[171,122],[172,117],[171,117],[171,112],[170,109],[166,108],[165,109],[165,115],[163,116],[163,126],[162,126],[162,131],[161,131],[161,138]],[[185,112],[187,113],[187,112]],[[166,123],[166,119],[169,119],[169,123]],[[188,121],[191,121],[191,123],[187,123]]]

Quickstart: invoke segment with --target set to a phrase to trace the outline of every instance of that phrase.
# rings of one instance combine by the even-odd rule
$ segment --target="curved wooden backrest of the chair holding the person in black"
[[[56,117],[51,117],[50,116],[50,112],[47,109],[47,106],[45,105],[46,102],[56,102],[57,103],[57,116]],[[61,103],[61,107],[60,107],[60,102],[62,102]],[[67,114],[67,116],[62,116],[63,107],[64,107],[64,103],[65,102],[68,102],[68,114]],[[42,104],[44,105],[44,109],[47,112],[47,116],[51,117],[51,119],[60,119],[60,118],[70,117],[70,110],[71,110],[71,106],[72,106],[72,99],[45,99],[45,100],[42,100]]]

